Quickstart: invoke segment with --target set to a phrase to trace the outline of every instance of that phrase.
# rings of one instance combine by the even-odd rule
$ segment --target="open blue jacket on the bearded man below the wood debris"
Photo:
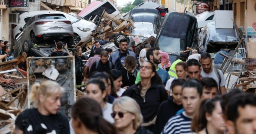
[[[137,59],[136,54],[134,52],[127,50],[126,53],[127,55],[134,56]],[[120,56],[121,52],[120,49],[118,49],[117,51],[113,52],[109,57],[109,62],[111,62],[114,65],[115,69],[118,69],[120,66],[122,66]]]

